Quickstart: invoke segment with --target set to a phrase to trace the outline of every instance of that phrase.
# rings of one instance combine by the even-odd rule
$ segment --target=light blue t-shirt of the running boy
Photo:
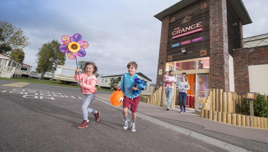
[[[136,73],[130,77],[129,73],[126,73],[123,75],[121,83],[119,84],[119,87],[121,88],[121,91],[124,93],[125,96],[127,96],[128,98],[135,98],[137,96],[134,96],[133,90],[128,90],[128,88],[133,85],[134,79],[139,78],[141,79],[141,77],[139,77]]]

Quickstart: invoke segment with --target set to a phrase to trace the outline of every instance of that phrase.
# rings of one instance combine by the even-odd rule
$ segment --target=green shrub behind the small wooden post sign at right
[[[243,106],[244,108],[241,108],[239,105],[237,105],[238,109],[244,115],[250,115],[250,100],[244,98]],[[253,100],[253,115],[268,118],[268,102],[260,93],[257,94],[257,99]]]

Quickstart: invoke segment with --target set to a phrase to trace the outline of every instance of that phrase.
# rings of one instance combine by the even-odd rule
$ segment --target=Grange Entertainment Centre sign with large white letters
[[[176,39],[178,37],[183,37],[183,36],[186,36],[189,34],[203,31],[201,24],[202,24],[202,22],[199,22],[199,23],[196,23],[194,25],[185,27],[183,29],[180,29],[180,27],[175,28],[174,31],[172,32],[172,36],[173,36],[172,39]]]

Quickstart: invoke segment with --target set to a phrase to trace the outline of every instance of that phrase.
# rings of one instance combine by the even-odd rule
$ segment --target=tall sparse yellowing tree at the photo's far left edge
[[[1,39],[0,39],[0,51],[11,51],[11,49],[25,48],[30,43],[29,37],[26,37],[25,33],[20,27],[13,26],[7,21],[0,21]],[[9,48],[9,50],[3,50],[3,48]]]

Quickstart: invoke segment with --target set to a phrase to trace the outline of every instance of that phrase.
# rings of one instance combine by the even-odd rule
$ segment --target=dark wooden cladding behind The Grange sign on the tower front
[[[201,4],[204,3],[207,4],[207,7],[201,9]],[[169,23],[168,47],[166,52],[167,57],[172,56],[172,61],[179,61],[209,56],[209,0],[197,1],[194,4],[191,4],[177,12],[174,12],[170,15],[170,18],[175,18],[175,21]],[[199,22],[202,22],[203,31],[172,39],[172,32],[175,28],[180,27],[180,29],[183,29]],[[181,43],[183,41],[191,40],[201,36],[203,36],[202,41],[171,48],[171,45],[174,43]],[[186,48],[187,53],[181,52],[181,48],[183,47]],[[207,50],[207,54],[205,56],[200,56],[200,51],[203,49]],[[168,59],[166,58],[166,61],[167,60]]]

